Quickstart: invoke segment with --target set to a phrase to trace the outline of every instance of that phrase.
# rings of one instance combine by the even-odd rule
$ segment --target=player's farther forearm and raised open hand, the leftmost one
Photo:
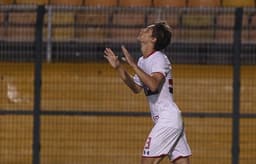
[[[114,54],[114,52],[110,48],[106,48],[104,51],[104,57],[108,60],[110,65],[118,72],[120,78],[124,81],[124,83],[134,92],[139,93],[141,91],[141,87],[137,85],[131,75],[126,71],[126,69],[122,66],[118,57]]]

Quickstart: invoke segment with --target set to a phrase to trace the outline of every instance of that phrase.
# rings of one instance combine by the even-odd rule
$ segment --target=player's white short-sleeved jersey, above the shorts
[[[173,101],[172,68],[167,56],[156,51],[147,58],[140,57],[138,66],[149,75],[159,72],[165,77],[162,87],[157,92],[151,92],[139,77],[134,75],[135,83],[144,88],[153,121],[180,128],[182,126],[181,113]]]

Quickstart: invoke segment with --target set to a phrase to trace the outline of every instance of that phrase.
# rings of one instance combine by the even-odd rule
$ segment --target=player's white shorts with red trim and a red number
[[[156,124],[151,130],[143,150],[143,157],[168,155],[170,160],[191,155],[185,132],[182,129]]]

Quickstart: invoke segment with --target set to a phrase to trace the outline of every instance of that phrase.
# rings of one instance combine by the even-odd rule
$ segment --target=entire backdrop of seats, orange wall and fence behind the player
[[[148,104],[103,51],[125,45],[137,59],[139,30],[166,20],[191,163],[254,164],[255,3],[0,0],[0,163],[140,163]]]

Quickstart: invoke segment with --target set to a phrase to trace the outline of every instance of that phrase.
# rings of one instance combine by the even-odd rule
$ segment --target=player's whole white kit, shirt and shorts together
[[[140,57],[138,66],[149,75],[159,72],[165,77],[162,87],[157,92],[151,92],[137,75],[134,76],[135,83],[144,88],[155,123],[146,140],[142,156],[168,155],[172,161],[190,156],[191,150],[183,130],[181,112],[173,101],[170,61],[164,53],[156,51],[147,58]]]

